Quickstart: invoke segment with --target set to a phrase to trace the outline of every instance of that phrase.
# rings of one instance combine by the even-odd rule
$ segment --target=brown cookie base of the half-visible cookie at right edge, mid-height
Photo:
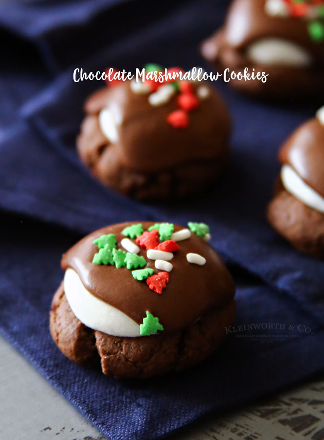
[[[300,252],[324,259],[324,214],[278,186],[267,210],[269,223]]]

